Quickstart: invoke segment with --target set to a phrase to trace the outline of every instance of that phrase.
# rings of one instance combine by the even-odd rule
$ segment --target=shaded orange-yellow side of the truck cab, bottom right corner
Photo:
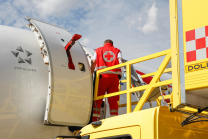
[[[181,122],[189,115],[179,112],[171,113],[167,107],[160,107],[157,113],[157,139],[207,139],[207,122],[196,122],[182,127]]]

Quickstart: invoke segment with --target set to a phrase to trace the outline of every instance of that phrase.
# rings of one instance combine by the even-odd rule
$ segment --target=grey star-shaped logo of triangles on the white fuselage
[[[29,63],[29,64],[32,64],[32,59],[30,58],[30,56],[32,55],[31,52],[29,52],[29,51],[27,51],[27,50],[24,51],[24,50],[22,49],[21,46],[17,47],[16,50],[17,50],[17,51],[11,51],[11,52],[12,52],[12,54],[13,54],[16,58],[18,58],[18,63],[25,63],[25,62],[27,62],[27,63]],[[20,57],[20,55],[19,55],[20,53],[25,53],[26,56],[27,56],[27,58],[23,59],[22,57]]]

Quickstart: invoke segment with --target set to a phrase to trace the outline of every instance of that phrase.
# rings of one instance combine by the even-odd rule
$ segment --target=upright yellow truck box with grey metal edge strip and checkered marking
[[[173,108],[208,106],[208,1],[170,0]]]

